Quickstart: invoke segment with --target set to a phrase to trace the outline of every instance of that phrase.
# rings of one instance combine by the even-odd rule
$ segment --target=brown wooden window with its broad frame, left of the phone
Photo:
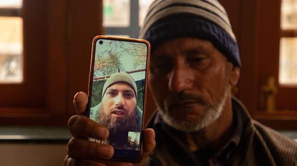
[[[13,23],[6,28],[2,21]],[[0,123],[66,126],[75,114],[75,93],[87,92],[92,39],[102,34],[102,1],[0,0],[3,28],[13,33],[0,31],[0,62],[3,52],[13,58],[0,67],[21,79],[6,72],[1,80]],[[17,37],[3,42],[4,35]]]

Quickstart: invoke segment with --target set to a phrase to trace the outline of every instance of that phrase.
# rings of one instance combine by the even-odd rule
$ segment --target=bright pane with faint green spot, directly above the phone
[[[130,25],[130,0],[104,0],[103,26],[127,27]]]

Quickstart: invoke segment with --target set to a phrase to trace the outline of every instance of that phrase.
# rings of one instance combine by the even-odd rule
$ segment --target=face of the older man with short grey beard
[[[184,37],[160,44],[151,56],[149,83],[163,121],[193,132],[218,119],[232,68],[209,41]]]

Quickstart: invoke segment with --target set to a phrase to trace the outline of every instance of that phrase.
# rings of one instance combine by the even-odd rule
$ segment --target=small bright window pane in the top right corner
[[[281,1],[281,28],[297,29],[297,0]]]

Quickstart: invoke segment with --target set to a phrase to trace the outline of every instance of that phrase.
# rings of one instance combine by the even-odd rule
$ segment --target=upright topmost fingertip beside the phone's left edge
[[[84,92],[78,92],[73,99],[73,105],[77,114],[82,115],[86,113],[88,104],[88,95]]]

